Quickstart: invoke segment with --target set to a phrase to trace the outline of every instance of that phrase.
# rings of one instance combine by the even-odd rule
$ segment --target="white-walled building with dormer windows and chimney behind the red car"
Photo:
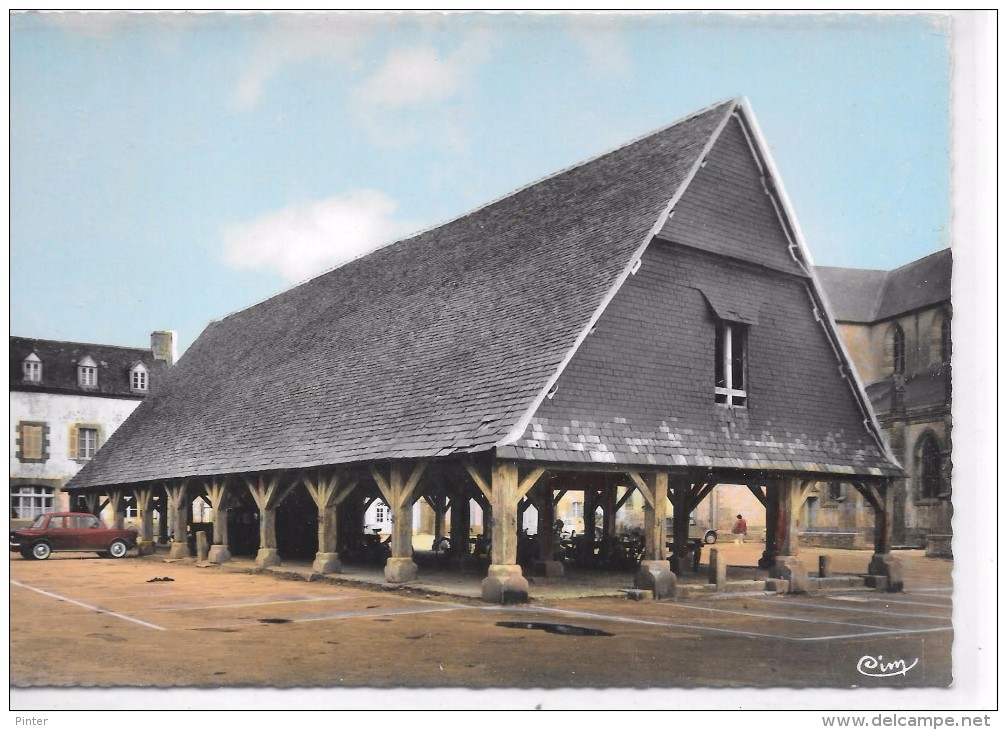
[[[76,507],[63,485],[157,388],[175,358],[175,333],[149,348],[10,338],[12,526]]]

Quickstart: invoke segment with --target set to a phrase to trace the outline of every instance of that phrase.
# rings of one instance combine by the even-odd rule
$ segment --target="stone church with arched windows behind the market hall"
[[[839,331],[905,469],[896,544],[951,556],[952,252],[892,271],[818,267]]]

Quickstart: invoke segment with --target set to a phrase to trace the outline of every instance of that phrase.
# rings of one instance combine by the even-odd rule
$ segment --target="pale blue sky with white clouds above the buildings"
[[[15,14],[11,333],[183,350],[742,95],[815,262],[894,268],[951,243],[950,40],[918,13]]]

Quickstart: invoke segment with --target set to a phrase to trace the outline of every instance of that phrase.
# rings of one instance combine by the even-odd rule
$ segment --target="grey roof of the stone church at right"
[[[951,301],[951,249],[892,271],[816,267],[836,319],[864,323]]]

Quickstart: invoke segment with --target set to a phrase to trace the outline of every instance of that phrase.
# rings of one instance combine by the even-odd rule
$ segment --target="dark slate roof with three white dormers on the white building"
[[[39,383],[24,380],[21,363],[31,353],[42,363],[42,380]],[[152,389],[168,370],[167,362],[155,359],[149,348],[34,337],[11,336],[9,357],[11,391],[142,398],[144,394],[132,389],[130,371],[143,363],[150,374],[149,388]],[[88,357],[98,369],[98,383],[94,388],[82,388],[78,382],[78,364]]]

